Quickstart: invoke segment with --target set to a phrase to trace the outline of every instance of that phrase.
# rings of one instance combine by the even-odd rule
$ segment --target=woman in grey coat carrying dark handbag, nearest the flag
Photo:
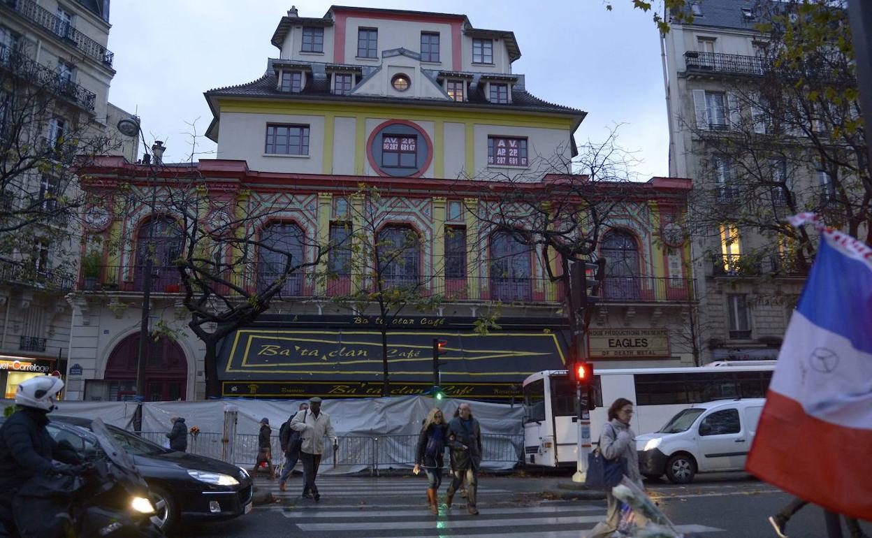
[[[632,480],[640,489],[642,474],[639,473],[639,458],[636,453],[636,433],[630,429],[630,419],[633,418],[633,402],[627,398],[617,398],[609,407],[609,422],[603,425],[600,434],[598,450],[606,460],[626,461],[626,477]],[[590,531],[588,538],[609,538],[617,530],[621,519],[621,501],[607,491],[605,494],[608,508],[605,521],[598,523]],[[645,520],[642,514],[633,514],[634,523],[637,527],[644,527]]]

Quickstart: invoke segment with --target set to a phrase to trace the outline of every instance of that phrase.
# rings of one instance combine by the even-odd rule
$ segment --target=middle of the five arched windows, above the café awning
[[[376,252],[386,287],[419,285],[421,242],[415,230],[406,226],[382,228]]]

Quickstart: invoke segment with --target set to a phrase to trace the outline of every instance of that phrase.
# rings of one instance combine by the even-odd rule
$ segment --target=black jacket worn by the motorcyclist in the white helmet
[[[46,413],[22,407],[0,426],[0,491],[17,490],[24,481],[51,471],[51,460],[77,464],[69,443],[51,439]]]

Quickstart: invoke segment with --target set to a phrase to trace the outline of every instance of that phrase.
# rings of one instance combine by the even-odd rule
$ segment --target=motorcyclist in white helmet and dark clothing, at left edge
[[[75,473],[81,459],[67,441],[49,435],[46,416],[55,409],[55,396],[64,382],[51,376],[31,378],[18,385],[17,411],[0,426],[0,536],[16,535],[12,500],[24,482],[50,473]]]

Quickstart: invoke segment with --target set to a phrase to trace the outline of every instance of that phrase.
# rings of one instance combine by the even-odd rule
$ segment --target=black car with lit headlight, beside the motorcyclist
[[[91,419],[51,416],[51,437],[66,439],[83,453],[96,450]],[[178,521],[221,521],[248,514],[253,485],[242,467],[221,460],[176,452],[133,432],[106,426],[146,479],[154,496],[155,516],[165,533]]]

